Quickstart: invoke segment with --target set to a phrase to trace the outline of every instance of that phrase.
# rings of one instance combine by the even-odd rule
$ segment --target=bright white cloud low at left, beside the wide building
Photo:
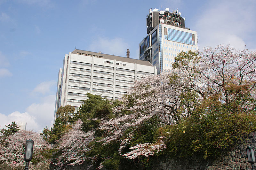
[[[41,132],[46,126],[52,125],[55,107],[55,95],[44,97],[41,103],[33,103],[26,108],[26,112],[15,111],[9,115],[0,113],[1,129],[12,121],[27,122],[27,130]]]

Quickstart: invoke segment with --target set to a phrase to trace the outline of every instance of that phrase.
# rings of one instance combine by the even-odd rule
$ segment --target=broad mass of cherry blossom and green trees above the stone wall
[[[76,125],[58,141],[57,167],[88,161],[118,169],[125,158],[145,167],[160,154],[217,157],[256,130],[255,62],[255,52],[224,45],[182,51],[173,69],[135,81],[119,101],[87,94],[69,120]]]

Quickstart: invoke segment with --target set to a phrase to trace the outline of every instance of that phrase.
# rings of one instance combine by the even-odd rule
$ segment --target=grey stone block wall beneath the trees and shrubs
[[[246,147],[251,145],[256,148],[256,132],[250,133],[248,138],[231,148],[228,151],[223,151],[221,156],[215,160],[204,160],[203,158],[191,157],[188,159],[174,159],[168,156],[154,157],[153,165],[145,168],[138,166],[134,161],[127,159],[121,161],[120,170],[251,170],[252,166],[246,158]],[[67,170],[87,169],[87,164],[80,166],[69,166]],[[92,167],[90,169],[96,169]]]

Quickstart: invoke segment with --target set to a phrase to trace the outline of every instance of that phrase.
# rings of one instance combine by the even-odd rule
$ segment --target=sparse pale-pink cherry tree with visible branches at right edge
[[[228,105],[232,100],[229,93],[232,86],[244,86],[249,93],[255,93],[255,51],[238,51],[229,45],[219,45],[215,49],[204,48],[200,55],[202,59],[198,70],[202,76],[198,91],[205,97],[219,95],[220,102]]]

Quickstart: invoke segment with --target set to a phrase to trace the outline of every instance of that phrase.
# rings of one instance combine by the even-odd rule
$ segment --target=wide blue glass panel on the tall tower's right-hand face
[[[195,40],[193,41],[191,33],[167,28],[167,34],[168,35],[164,35],[165,40],[184,43],[188,45],[196,45]]]

